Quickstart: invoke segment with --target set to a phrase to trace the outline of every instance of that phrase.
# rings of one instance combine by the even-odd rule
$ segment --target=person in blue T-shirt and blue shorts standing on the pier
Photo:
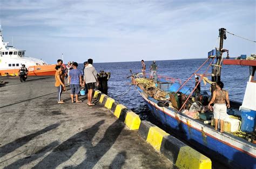
[[[80,92],[80,86],[82,86],[82,73],[77,69],[78,64],[73,63],[73,69],[69,71],[69,82],[70,82],[70,96],[72,103],[74,103],[74,94],[76,96],[76,103],[82,102],[78,100],[78,93]]]

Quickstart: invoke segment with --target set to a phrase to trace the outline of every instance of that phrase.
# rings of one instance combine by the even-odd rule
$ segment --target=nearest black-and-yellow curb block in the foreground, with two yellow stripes
[[[212,162],[203,154],[161,130],[149,121],[142,121],[139,134],[147,143],[173,161],[178,168],[211,168]]]

